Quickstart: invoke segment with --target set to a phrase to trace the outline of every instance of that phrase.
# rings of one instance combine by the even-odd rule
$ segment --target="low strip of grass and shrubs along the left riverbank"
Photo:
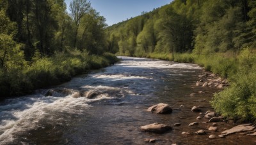
[[[77,74],[118,62],[115,55],[88,55],[78,50],[56,52],[52,57],[33,58],[23,67],[0,69],[0,98],[23,95],[36,88],[58,85]]]

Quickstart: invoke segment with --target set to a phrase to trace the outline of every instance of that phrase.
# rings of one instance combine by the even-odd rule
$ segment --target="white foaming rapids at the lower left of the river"
[[[97,99],[84,97],[75,99],[72,95],[67,97],[34,95],[12,99],[8,104],[0,106],[0,144],[12,142],[20,132],[40,127],[40,121],[49,120],[49,123],[56,123],[62,120],[61,114],[82,114],[90,107],[88,102],[102,99],[109,97],[102,94]]]

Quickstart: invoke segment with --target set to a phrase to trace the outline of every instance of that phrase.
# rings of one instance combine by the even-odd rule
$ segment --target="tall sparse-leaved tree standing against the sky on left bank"
[[[71,11],[71,16],[75,24],[75,34],[74,34],[74,47],[77,47],[77,32],[81,22],[81,18],[90,11],[91,4],[86,0],[73,0],[70,3],[69,10]]]

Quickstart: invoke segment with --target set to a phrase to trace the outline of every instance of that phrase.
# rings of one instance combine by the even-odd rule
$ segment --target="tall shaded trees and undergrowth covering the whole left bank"
[[[117,61],[90,2],[0,0],[0,96],[22,95]],[[0,97],[0,98],[1,98]]]

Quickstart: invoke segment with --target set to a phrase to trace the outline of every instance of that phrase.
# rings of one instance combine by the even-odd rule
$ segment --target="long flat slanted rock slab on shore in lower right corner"
[[[236,127],[221,132],[221,134],[228,135],[236,132],[252,131],[254,128],[255,127],[253,127],[251,124],[237,125]]]

